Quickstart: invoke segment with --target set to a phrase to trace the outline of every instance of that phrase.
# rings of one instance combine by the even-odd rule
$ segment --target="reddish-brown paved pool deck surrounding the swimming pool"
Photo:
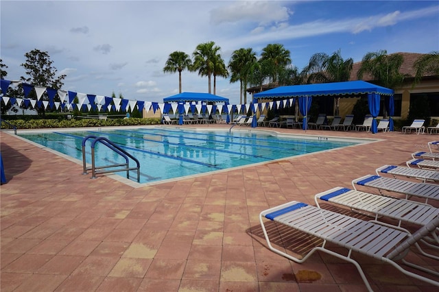
[[[357,269],[333,256],[298,264],[270,252],[259,212],[292,200],[315,205],[316,193],[351,188],[382,165],[405,165],[439,136],[274,130],[382,140],[134,188],[91,180],[82,166],[1,132],[8,182],[0,188],[0,291],[366,291]],[[437,291],[390,265],[354,258],[375,291]],[[411,259],[439,271],[437,260]]]

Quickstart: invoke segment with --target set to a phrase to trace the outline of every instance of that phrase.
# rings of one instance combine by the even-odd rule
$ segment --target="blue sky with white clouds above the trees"
[[[139,101],[177,94],[178,73],[163,73],[169,54],[192,56],[209,41],[226,65],[237,49],[259,58],[279,43],[299,71],[314,53],[339,49],[354,62],[380,50],[439,51],[438,1],[1,0],[0,14],[6,80],[27,77],[25,53],[39,49],[67,75],[62,89]],[[182,91],[207,93],[208,78],[183,71]],[[239,104],[239,82],[218,78],[216,94]]]

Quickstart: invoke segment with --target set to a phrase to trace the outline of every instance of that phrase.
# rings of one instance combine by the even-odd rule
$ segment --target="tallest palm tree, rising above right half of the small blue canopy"
[[[214,70],[217,52],[220,47],[215,45],[215,42],[204,42],[198,45],[193,51],[193,64],[191,71],[198,71],[198,75],[207,76],[209,79],[209,93],[211,93],[211,77]]]

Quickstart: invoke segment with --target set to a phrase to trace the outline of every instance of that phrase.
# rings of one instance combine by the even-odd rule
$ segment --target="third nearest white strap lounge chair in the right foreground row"
[[[383,191],[401,193],[405,199],[418,197],[425,199],[425,204],[429,199],[439,201],[439,184],[428,184],[426,182],[410,182],[409,180],[399,180],[398,178],[386,178],[379,175],[364,175],[352,181],[352,186],[357,190],[357,186],[367,186],[377,188],[381,195],[386,195]]]

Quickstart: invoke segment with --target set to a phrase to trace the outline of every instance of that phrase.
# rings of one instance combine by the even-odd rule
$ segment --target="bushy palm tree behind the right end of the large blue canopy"
[[[369,73],[377,85],[397,88],[404,81],[404,75],[399,72],[403,61],[404,57],[399,53],[388,55],[385,50],[366,53],[357,77],[361,80],[364,73]]]

